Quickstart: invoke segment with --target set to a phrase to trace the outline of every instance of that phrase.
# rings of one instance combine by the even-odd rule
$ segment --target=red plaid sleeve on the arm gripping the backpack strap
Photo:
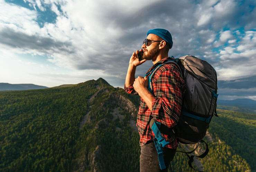
[[[152,101],[152,116],[165,126],[174,127],[179,121],[182,106],[182,85],[176,67],[159,74],[153,83],[155,98]]]

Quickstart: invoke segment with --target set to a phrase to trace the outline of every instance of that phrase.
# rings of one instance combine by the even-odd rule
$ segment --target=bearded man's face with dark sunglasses
[[[147,39],[152,41],[160,41],[158,40],[156,35],[152,33],[148,34]],[[144,51],[143,58],[146,60],[152,60],[153,58],[156,58],[160,52],[158,45],[159,45],[159,42],[151,42],[151,41],[148,41],[147,46],[143,44],[141,46],[141,48]]]

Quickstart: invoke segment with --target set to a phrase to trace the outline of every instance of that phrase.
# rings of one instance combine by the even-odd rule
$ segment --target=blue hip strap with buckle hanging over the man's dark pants
[[[159,166],[161,170],[166,169],[165,163],[164,163],[164,152],[163,152],[163,147],[165,147],[169,142],[167,142],[163,136],[161,135],[161,132],[159,131],[161,123],[158,121],[154,121],[151,129],[155,134],[154,138],[154,143],[156,147],[156,151],[158,154],[158,161],[159,161]]]

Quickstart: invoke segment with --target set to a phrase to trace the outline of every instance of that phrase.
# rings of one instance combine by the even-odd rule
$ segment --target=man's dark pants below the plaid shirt
[[[140,147],[140,172],[167,172],[170,162],[173,160],[176,149],[163,148],[166,169],[160,169],[158,155],[154,143],[148,143]]]

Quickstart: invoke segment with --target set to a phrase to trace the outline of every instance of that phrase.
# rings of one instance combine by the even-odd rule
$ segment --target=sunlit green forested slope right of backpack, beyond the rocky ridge
[[[214,118],[209,131],[225,143],[241,158],[245,159],[252,171],[256,171],[256,114],[218,110],[219,118]],[[230,164],[238,164],[230,161]]]

